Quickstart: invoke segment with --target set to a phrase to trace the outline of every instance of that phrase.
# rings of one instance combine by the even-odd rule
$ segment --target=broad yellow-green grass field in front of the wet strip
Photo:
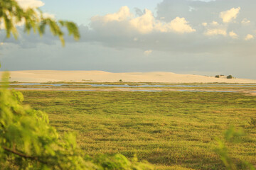
[[[224,169],[215,137],[242,129],[228,145],[235,162],[256,165],[256,96],[213,92],[22,91],[59,132],[76,132],[87,154],[137,155],[156,169]],[[183,168],[182,168],[183,167]]]

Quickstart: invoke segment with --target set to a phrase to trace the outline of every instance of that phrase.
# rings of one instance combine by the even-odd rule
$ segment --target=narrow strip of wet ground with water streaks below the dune
[[[191,91],[191,92],[242,92],[256,96],[256,84],[163,84],[163,83],[12,83],[9,88],[39,91]]]

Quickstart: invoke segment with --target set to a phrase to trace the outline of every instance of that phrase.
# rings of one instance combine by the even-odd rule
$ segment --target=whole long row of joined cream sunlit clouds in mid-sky
[[[102,29],[102,26],[107,26],[108,23],[112,23],[113,21],[123,21],[118,25],[122,27],[122,30],[130,32],[136,30],[141,34],[149,34],[154,31],[160,33],[192,33],[196,31],[188,24],[185,18],[176,17],[171,22],[166,23],[156,20],[153,13],[148,9],[145,9],[142,16],[134,17],[134,15],[129,12],[127,6],[120,8],[117,13],[92,17],[92,26],[96,26],[94,23],[100,22],[97,26],[100,26],[101,28],[99,29]],[[111,24],[109,26],[111,26]],[[115,27],[117,28],[117,25]]]

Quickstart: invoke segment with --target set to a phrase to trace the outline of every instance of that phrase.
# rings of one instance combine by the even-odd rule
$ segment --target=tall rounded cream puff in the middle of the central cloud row
[[[154,16],[150,10],[145,9],[143,16],[133,18],[129,21],[129,24],[138,30],[139,33],[151,33],[154,29]]]

